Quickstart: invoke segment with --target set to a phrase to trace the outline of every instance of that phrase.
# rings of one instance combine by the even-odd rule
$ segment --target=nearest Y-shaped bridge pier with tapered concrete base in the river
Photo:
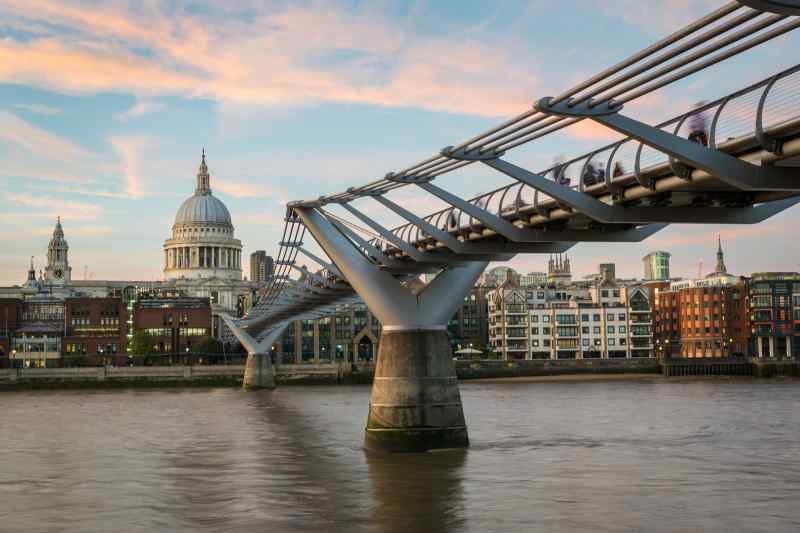
[[[364,446],[424,452],[469,446],[446,325],[486,261],[445,266],[427,286],[381,270],[319,211],[303,223],[382,325]]]

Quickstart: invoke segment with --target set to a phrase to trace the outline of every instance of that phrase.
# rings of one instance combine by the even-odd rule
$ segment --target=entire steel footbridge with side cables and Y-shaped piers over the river
[[[245,387],[275,386],[270,348],[292,321],[362,301],[383,326],[366,448],[468,446],[445,326],[490,261],[563,252],[580,242],[638,242],[669,223],[757,224],[800,202],[800,65],[660,124],[625,109],[796,30],[799,15],[798,0],[730,2],[428,159],[289,203],[266,294],[245,317],[223,317],[248,352]],[[699,116],[708,126],[698,136],[692,124]],[[506,159],[584,120],[623,138],[541,171]],[[511,182],[469,199],[436,184],[472,165]],[[448,207],[415,214],[388,197],[401,188]],[[389,228],[376,212],[405,223]],[[304,244],[309,235],[323,253]],[[298,266],[300,256],[319,269]],[[425,285],[421,273],[435,278]]]

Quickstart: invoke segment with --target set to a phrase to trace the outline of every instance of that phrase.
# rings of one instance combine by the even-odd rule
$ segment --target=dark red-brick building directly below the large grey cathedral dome
[[[211,303],[208,298],[139,300],[133,330],[150,335],[158,353],[189,352],[211,335]]]

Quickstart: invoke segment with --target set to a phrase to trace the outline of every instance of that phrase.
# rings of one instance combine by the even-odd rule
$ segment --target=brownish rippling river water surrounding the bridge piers
[[[467,382],[467,452],[369,387],[0,393],[0,531],[800,531],[800,383]]]

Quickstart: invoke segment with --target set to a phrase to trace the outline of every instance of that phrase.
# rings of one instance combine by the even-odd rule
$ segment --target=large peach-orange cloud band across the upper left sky
[[[0,41],[0,80],[63,91],[498,116],[526,107],[537,84],[530,68],[514,64],[520,54],[496,43],[417,35],[379,13],[347,14],[328,4],[251,7],[248,17],[217,16],[214,6],[199,14],[149,4],[2,5],[9,24],[30,25],[31,13],[47,24],[29,27],[34,33],[24,42]],[[142,106],[129,112],[146,111]]]

